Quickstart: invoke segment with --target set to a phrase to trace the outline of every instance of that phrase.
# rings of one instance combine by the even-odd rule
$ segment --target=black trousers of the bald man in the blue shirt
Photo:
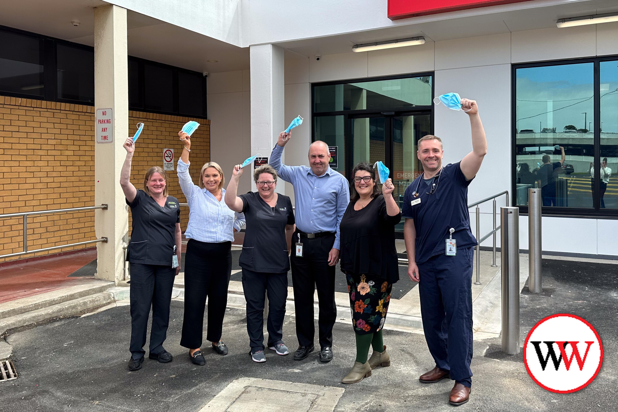
[[[298,231],[292,242],[298,242]],[[320,347],[332,347],[332,326],[337,319],[335,306],[335,267],[328,266],[328,253],[335,242],[335,234],[309,239],[301,235],[303,257],[297,258],[292,250],[292,285],[294,286],[294,309],[296,312],[296,336],[298,345],[313,343],[313,293],[318,289],[318,316]]]

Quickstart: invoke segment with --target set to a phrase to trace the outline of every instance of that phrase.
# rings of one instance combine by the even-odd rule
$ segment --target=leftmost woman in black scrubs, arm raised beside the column
[[[131,208],[132,230],[127,260],[131,283],[131,359],[129,370],[142,368],[148,314],[153,309],[148,358],[161,363],[172,361],[163,348],[169,324],[169,304],[174,276],[180,272],[180,208],[178,200],[167,195],[167,176],[161,167],[146,171],[143,190],[130,182],[133,138],[124,142],[127,158],[122,165],[120,184]]]

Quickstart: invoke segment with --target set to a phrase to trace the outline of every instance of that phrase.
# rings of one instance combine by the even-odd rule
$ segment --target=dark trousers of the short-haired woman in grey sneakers
[[[264,350],[264,301],[268,292],[268,347],[283,338],[286,316],[287,273],[253,272],[243,267],[242,289],[247,301],[247,333],[252,353]]]

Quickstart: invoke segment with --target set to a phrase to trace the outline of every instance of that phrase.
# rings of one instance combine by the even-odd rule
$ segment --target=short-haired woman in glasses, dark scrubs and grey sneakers
[[[247,332],[253,361],[265,362],[262,332],[265,292],[268,292],[268,348],[277,355],[288,353],[282,338],[294,212],[290,198],[274,191],[277,187],[277,172],[272,166],[265,164],[253,172],[258,191],[237,196],[241,175],[242,167],[237,164],[227,186],[226,204],[235,212],[244,212],[247,221],[239,259],[242,288],[247,301]]]

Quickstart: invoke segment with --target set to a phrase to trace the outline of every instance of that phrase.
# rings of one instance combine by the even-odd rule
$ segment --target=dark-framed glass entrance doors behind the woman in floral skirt
[[[430,114],[351,117],[350,172],[358,162],[382,161],[391,171],[395,185],[393,198],[401,208],[405,189],[422,172],[417,159],[417,141],[431,134]],[[404,223],[396,227],[403,232]]]

